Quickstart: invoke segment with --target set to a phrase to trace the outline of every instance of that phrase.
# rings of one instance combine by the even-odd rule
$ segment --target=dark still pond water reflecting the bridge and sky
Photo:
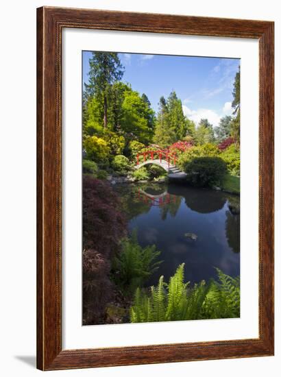
[[[229,203],[239,197],[220,191],[178,184],[120,184],[115,186],[142,246],[155,244],[163,260],[147,285],[164,281],[185,263],[185,280],[216,278],[214,267],[230,276],[240,273],[240,217]]]

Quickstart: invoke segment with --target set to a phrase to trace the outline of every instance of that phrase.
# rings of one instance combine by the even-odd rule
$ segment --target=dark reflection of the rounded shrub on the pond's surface
[[[184,197],[186,206],[199,213],[210,213],[221,210],[227,199],[224,193],[218,191],[194,189],[176,184],[169,184],[168,192]]]

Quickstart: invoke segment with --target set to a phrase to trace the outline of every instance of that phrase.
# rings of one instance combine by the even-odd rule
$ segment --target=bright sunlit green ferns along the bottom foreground
[[[240,280],[217,269],[219,282],[184,282],[184,263],[169,280],[161,276],[149,293],[136,289],[130,308],[131,322],[236,318],[240,315]]]

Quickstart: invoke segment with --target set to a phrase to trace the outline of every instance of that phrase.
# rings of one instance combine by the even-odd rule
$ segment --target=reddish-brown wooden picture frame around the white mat
[[[259,337],[62,350],[62,29],[259,42]],[[43,7],[37,10],[37,367],[42,370],[270,356],[273,327],[273,22]]]

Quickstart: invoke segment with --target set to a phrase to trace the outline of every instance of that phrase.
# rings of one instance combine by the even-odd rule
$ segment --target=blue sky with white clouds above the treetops
[[[83,52],[83,80],[88,82],[90,51]],[[162,95],[175,90],[182,100],[184,114],[198,123],[208,118],[217,126],[219,119],[232,114],[232,90],[240,59],[193,56],[119,53],[125,67],[122,81],[145,93],[157,112]]]

